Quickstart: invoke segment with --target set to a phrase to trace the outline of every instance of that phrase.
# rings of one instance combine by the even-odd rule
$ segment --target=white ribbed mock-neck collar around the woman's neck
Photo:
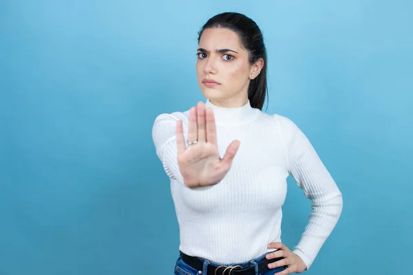
[[[207,99],[205,107],[212,109],[215,117],[215,124],[217,125],[236,126],[246,124],[255,120],[258,115],[258,109],[251,107],[249,100],[242,107],[225,108],[216,106]]]

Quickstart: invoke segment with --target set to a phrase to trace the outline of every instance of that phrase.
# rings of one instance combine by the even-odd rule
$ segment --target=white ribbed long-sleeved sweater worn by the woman
[[[214,186],[188,188],[177,162],[176,120],[182,120],[187,141],[189,110],[162,113],[152,137],[156,154],[171,179],[171,194],[180,228],[179,249],[216,263],[240,263],[281,241],[282,205],[288,175],[313,201],[310,220],[293,248],[313,263],[339,219],[341,192],[306,135],[288,118],[251,107],[222,108],[209,100],[217,129],[218,151],[224,157],[233,140],[240,148],[231,169]]]

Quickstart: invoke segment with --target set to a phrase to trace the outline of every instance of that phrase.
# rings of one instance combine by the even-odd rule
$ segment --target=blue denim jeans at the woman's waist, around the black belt
[[[271,253],[271,252],[268,252]],[[266,253],[266,254],[268,254]],[[265,255],[266,254],[262,254],[261,256],[252,259],[251,261],[246,261],[243,263],[215,263],[213,261],[209,261],[207,259],[203,259],[203,258],[198,258],[201,261],[204,262],[204,269],[203,270],[195,270],[193,267],[191,267],[190,265],[188,265],[187,263],[185,263],[184,261],[182,261],[181,257],[178,257],[178,260],[176,260],[176,265],[175,265],[175,272],[173,273],[174,275],[201,275],[201,274],[207,274],[207,266],[209,264],[215,265],[215,266],[220,266],[220,265],[241,265],[242,267],[250,267],[250,266],[255,266],[255,275],[274,275],[277,272],[282,272],[283,270],[285,270],[287,267],[286,266],[282,266],[282,267],[277,267],[277,268],[272,268],[271,270],[267,270],[264,273],[260,273],[258,272],[258,265],[257,262],[262,261],[263,259],[265,259]],[[199,273],[199,272],[202,273]],[[226,274],[228,274],[228,270],[226,271]]]

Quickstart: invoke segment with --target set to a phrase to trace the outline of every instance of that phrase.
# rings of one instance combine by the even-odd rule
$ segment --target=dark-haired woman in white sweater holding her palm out
[[[198,46],[207,101],[158,115],[152,131],[180,228],[175,274],[301,273],[339,219],[341,192],[304,133],[261,111],[267,58],[255,22],[218,14],[201,29]],[[293,251],[281,242],[288,175],[313,201]]]

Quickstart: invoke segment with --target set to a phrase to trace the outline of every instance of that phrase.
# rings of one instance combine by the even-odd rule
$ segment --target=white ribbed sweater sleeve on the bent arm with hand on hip
[[[288,157],[288,173],[312,201],[308,225],[293,249],[308,270],[337,224],[343,199],[337,184],[306,135],[288,118],[281,117],[279,122]]]

